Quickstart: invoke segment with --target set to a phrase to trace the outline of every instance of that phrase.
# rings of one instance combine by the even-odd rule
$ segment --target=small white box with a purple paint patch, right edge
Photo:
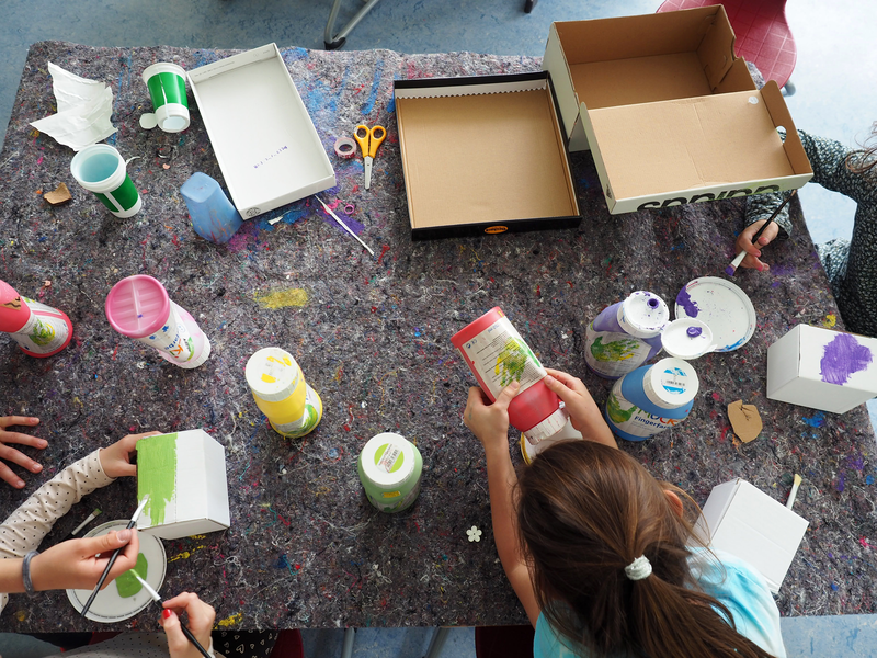
[[[767,397],[844,413],[877,396],[877,339],[798,325],[767,349]]]

